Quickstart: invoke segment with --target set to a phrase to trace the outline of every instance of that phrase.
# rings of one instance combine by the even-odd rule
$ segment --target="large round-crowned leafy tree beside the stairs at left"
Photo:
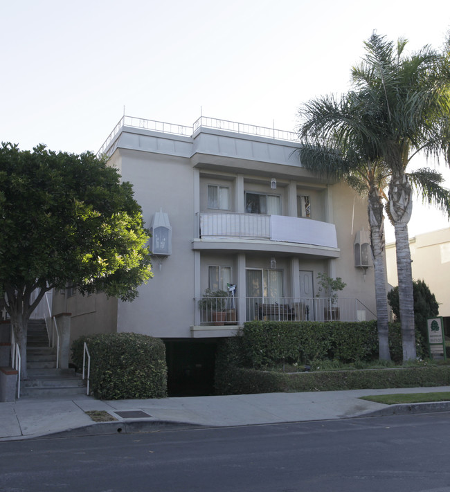
[[[44,145],[30,152],[2,144],[0,217],[0,295],[26,379],[28,320],[46,291],[69,285],[133,300],[152,276],[149,233],[132,185],[114,167]]]

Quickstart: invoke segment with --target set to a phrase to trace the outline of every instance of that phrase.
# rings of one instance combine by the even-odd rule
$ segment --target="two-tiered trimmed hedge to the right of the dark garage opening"
[[[426,345],[416,330],[417,355]],[[402,362],[399,323],[389,325],[390,355]],[[217,394],[280,391],[396,388],[448,384],[444,368],[399,368],[398,370],[353,370],[283,374],[261,369],[281,364],[332,360],[341,363],[375,361],[378,358],[377,322],[262,322],[244,324],[242,331],[219,345],[216,356]],[[416,372],[424,370],[425,372]],[[433,371],[437,370],[436,373]],[[400,371],[400,372],[395,372]],[[428,372],[427,372],[428,371]],[[422,381],[422,374],[424,379]],[[430,378],[428,380],[428,378]],[[447,378],[447,379],[446,379]]]

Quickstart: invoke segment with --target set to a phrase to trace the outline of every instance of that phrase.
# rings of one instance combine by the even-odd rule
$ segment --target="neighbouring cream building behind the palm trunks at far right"
[[[439,316],[450,334],[450,228],[417,234],[409,239],[414,280],[424,280],[439,302]],[[398,285],[395,243],[386,244],[388,282]]]

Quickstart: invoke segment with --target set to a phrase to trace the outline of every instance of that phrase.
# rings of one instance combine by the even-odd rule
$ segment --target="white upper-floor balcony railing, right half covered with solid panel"
[[[200,237],[240,237],[337,248],[336,226],[282,215],[199,213]]]

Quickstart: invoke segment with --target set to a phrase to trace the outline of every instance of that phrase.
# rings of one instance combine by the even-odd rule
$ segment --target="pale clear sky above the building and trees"
[[[202,111],[292,131],[302,102],[348,89],[373,30],[415,50],[440,48],[450,29],[448,0],[1,0],[0,9],[0,140],[77,153],[96,152],[124,107],[181,125]],[[449,226],[429,208],[413,215],[410,235]]]

